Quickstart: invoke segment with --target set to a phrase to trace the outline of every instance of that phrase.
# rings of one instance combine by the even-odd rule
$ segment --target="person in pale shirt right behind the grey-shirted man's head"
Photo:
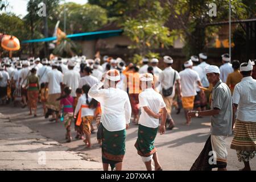
[[[226,83],[226,79],[228,78],[229,73],[233,73],[234,69],[230,63],[230,56],[228,53],[224,53],[221,55],[221,57],[223,65],[220,66],[220,79]]]

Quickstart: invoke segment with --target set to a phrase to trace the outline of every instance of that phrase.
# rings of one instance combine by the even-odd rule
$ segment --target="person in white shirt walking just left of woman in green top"
[[[26,107],[26,105],[27,105],[27,89],[26,89],[27,77],[31,74],[30,62],[28,62],[27,60],[23,61],[22,65],[23,65],[23,68],[22,68],[22,71],[20,72],[19,87],[20,87],[21,94],[22,94],[22,101],[23,101],[22,107]]]

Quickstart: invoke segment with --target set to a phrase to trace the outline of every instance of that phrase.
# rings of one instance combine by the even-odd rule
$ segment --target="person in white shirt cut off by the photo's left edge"
[[[7,100],[7,86],[10,85],[10,77],[8,72],[5,71],[5,68],[0,64],[0,99],[2,105],[5,104]]]

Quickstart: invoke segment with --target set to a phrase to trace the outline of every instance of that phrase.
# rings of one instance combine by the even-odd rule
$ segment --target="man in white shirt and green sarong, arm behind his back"
[[[148,171],[152,171],[152,159],[154,160],[155,171],[162,171],[154,141],[158,130],[160,135],[166,131],[167,109],[162,96],[152,88],[153,82],[154,76],[150,73],[144,73],[140,77],[142,92],[139,94],[139,107],[142,111],[139,117],[138,139],[134,146]],[[162,118],[162,122],[159,126],[160,118]]]

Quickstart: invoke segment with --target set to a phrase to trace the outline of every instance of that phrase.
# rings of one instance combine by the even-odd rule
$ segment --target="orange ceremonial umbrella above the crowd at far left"
[[[12,35],[5,35],[2,38],[1,46],[7,51],[18,51],[20,49],[19,39]]]

